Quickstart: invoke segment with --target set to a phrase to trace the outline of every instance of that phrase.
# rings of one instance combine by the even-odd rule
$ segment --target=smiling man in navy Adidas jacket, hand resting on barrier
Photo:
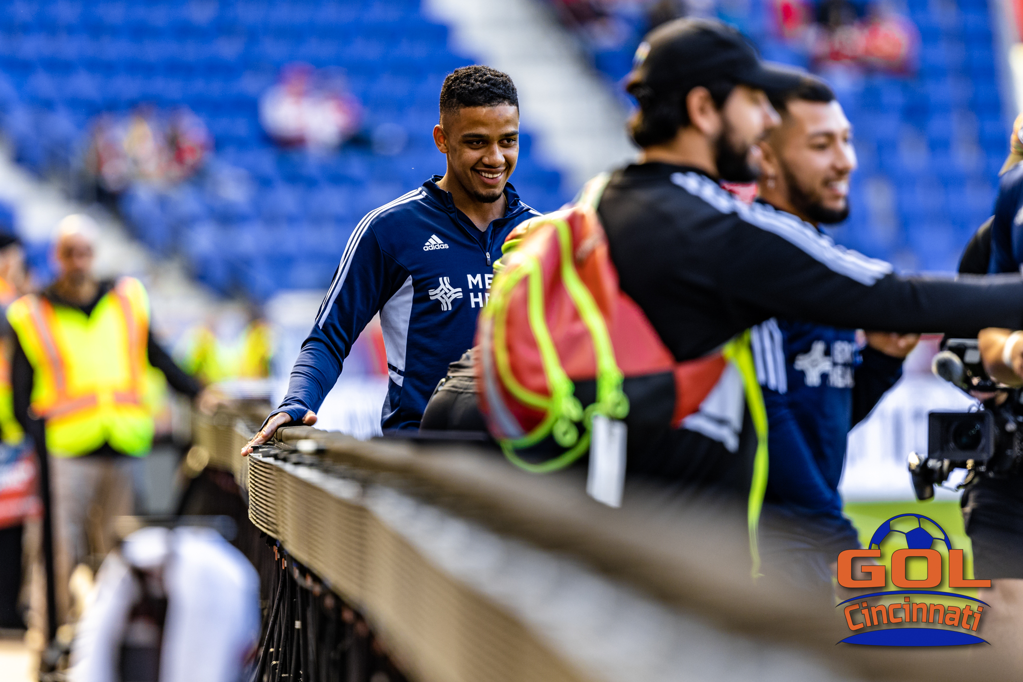
[[[519,157],[511,79],[480,65],[451,73],[441,88],[434,142],[447,157],[444,176],[359,222],[292,369],[287,395],[246,454],[282,424],[315,423],[352,344],[376,313],[390,377],[384,428],[417,428],[448,363],[473,345],[504,238],[539,215],[508,183]]]

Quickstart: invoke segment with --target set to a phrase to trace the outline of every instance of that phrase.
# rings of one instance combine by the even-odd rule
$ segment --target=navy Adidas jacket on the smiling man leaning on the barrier
[[[505,185],[507,210],[480,232],[434,176],[363,218],[348,240],[278,411],[319,409],[363,327],[380,313],[387,349],[384,428],[417,428],[449,363],[473,345],[492,264],[508,233],[538,216]]]

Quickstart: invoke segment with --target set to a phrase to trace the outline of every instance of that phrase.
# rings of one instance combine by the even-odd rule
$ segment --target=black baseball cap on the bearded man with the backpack
[[[716,80],[772,91],[796,88],[801,72],[760,59],[737,29],[713,19],[682,18],[652,31],[636,50],[628,90],[641,85],[655,97],[688,92]]]

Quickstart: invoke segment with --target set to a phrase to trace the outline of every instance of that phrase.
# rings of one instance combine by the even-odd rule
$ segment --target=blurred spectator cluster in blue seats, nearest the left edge
[[[110,194],[134,182],[176,184],[195,173],[212,146],[206,126],[187,108],[104,113],[93,125],[86,173]]]

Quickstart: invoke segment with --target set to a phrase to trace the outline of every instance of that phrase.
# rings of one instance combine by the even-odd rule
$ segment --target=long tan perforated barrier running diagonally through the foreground
[[[242,459],[256,426],[222,412],[196,444],[414,682],[1020,677],[1007,647],[836,646],[840,612],[754,585],[742,543],[656,491],[614,510],[572,472],[305,426]]]

